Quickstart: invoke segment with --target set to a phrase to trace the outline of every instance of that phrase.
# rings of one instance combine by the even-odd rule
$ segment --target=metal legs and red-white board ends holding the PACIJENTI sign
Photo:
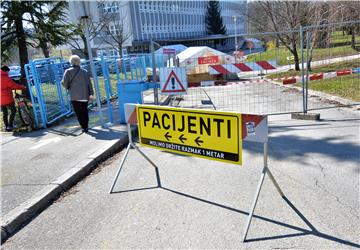
[[[137,125],[138,121],[137,121],[137,115],[136,115],[136,106],[137,104],[125,104],[125,116],[126,116],[126,121],[127,121],[127,130],[128,130],[128,136],[129,136],[129,144],[126,148],[125,154],[120,162],[120,166],[119,169],[116,172],[115,178],[113,180],[113,183],[111,185],[111,188],[109,190],[109,194],[112,193],[115,184],[117,182],[117,179],[120,175],[121,169],[125,163],[126,157],[128,155],[128,152],[130,150],[130,148],[134,148],[136,149],[136,151],[138,151],[152,166],[154,166],[155,168],[157,168],[156,164],[148,157],[145,155],[144,152],[142,152],[140,150],[139,147],[137,147],[135,145],[135,143],[133,142],[132,139],[132,135],[131,135],[131,125]],[[154,106],[156,107],[156,106]],[[245,230],[244,230],[244,234],[243,234],[243,238],[242,241],[245,242],[246,241],[246,236],[248,234],[249,228],[250,228],[250,224],[254,215],[254,211],[256,208],[256,204],[257,201],[259,199],[259,195],[260,195],[260,191],[265,179],[266,174],[269,175],[271,182],[274,184],[277,192],[280,194],[280,196],[282,198],[286,198],[283,191],[281,190],[279,184],[277,183],[277,181],[275,180],[273,174],[271,173],[269,167],[268,167],[268,124],[267,124],[267,116],[259,116],[259,115],[242,115],[242,126],[243,126],[243,131],[245,131],[245,135],[242,135],[242,139],[244,141],[252,141],[252,142],[261,142],[263,143],[263,152],[264,152],[264,165],[263,165],[263,169],[261,172],[261,176],[260,176],[260,180],[255,192],[255,196],[254,196],[254,200],[251,206],[251,210],[250,213],[248,215],[247,218],[247,222],[245,225]],[[246,129],[244,130],[244,127],[246,127]]]

